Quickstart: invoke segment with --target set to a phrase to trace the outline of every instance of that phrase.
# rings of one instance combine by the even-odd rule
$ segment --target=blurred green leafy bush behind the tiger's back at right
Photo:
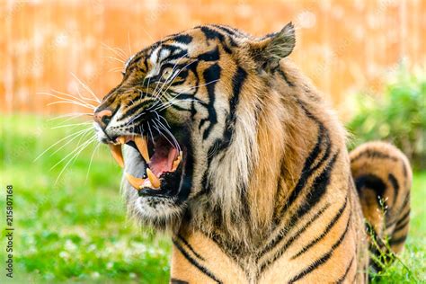
[[[426,168],[426,73],[404,67],[377,97],[360,93],[358,108],[347,128],[354,145],[375,139],[398,146],[419,168]]]

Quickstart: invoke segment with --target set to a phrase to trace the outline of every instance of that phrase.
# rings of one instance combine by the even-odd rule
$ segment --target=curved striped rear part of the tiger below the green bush
[[[364,214],[370,267],[381,271],[399,253],[410,223],[413,173],[407,157],[385,142],[369,142],[351,154],[351,173]]]

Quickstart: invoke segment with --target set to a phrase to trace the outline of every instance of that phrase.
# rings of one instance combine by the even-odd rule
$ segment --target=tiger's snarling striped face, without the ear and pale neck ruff
[[[214,190],[211,164],[234,140],[240,93],[259,73],[251,53],[265,39],[202,26],[126,62],[120,84],[94,113],[94,127],[124,168],[128,206],[141,220],[167,226],[191,200]]]

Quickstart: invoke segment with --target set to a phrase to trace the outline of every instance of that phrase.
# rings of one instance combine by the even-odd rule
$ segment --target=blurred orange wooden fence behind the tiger
[[[402,59],[426,61],[426,1],[1,1],[0,111],[81,111],[37,94],[76,93],[81,78],[102,97],[120,80],[111,69],[164,35],[225,23],[254,35],[297,25],[291,55],[336,104],[380,90]],[[111,48],[108,48],[111,47]],[[117,49],[116,49],[117,50]],[[117,52],[117,51],[116,51]]]

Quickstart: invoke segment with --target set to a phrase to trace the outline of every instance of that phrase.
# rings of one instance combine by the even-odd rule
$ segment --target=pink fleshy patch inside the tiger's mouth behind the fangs
[[[164,141],[161,141],[155,145],[155,153],[151,157],[150,163],[148,163],[149,169],[158,177],[162,173],[172,170],[173,161],[179,155],[177,149],[170,146],[168,143],[169,142],[164,143]]]

